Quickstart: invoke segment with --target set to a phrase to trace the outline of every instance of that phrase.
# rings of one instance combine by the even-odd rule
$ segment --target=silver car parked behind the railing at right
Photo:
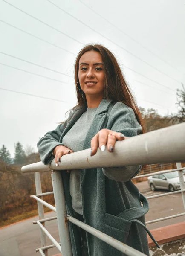
[[[185,174],[185,173],[184,173]],[[185,175],[183,175],[185,181]],[[168,172],[148,177],[148,185],[152,191],[169,189],[171,192],[180,189],[178,172]]]

